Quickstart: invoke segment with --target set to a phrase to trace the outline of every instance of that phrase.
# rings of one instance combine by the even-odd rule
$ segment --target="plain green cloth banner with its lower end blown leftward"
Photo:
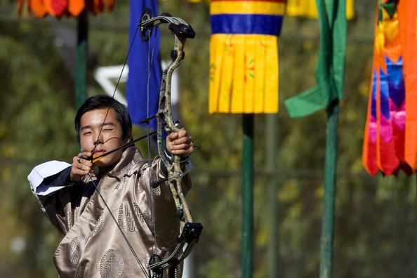
[[[346,50],[345,0],[316,0],[320,46],[315,69],[317,86],[285,101],[290,117],[304,117],[343,98]]]

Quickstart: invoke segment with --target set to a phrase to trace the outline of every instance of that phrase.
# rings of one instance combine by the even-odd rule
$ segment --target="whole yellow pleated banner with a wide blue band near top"
[[[278,112],[286,0],[211,0],[210,113]]]

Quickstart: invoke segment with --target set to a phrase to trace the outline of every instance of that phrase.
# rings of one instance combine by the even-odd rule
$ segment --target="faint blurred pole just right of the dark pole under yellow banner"
[[[271,173],[268,187],[268,203],[270,205],[270,244],[268,245],[268,277],[278,277],[278,117],[277,114],[266,115],[266,146],[267,172]]]

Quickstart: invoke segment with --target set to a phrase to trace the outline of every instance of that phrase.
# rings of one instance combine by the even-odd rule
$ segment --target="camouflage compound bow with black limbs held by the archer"
[[[143,13],[140,22],[140,36],[143,41],[147,41],[154,27],[168,23],[168,29],[171,30],[175,37],[174,49],[171,51],[171,64],[164,69],[161,79],[161,89],[159,91],[159,105],[156,115],[145,119],[143,122],[157,118],[157,145],[158,154],[162,162],[168,170],[168,185],[176,204],[177,216],[180,220],[181,233],[177,239],[177,246],[168,258],[161,260],[154,256],[148,265],[150,272],[159,273],[161,269],[166,267],[175,267],[183,261],[192,251],[194,245],[197,244],[203,226],[201,223],[194,223],[185,200],[183,190],[181,188],[181,180],[184,173],[180,167],[180,157],[173,155],[168,159],[164,154],[164,138],[163,130],[167,133],[178,133],[180,129],[176,126],[171,114],[171,79],[174,69],[179,67],[181,60],[184,58],[184,44],[187,38],[194,38],[195,33],[190,25],[181,18],[174,18],[169,15],[161,15],[152,18],[150,11]],[[154,186],[158,186],[157,185]]]

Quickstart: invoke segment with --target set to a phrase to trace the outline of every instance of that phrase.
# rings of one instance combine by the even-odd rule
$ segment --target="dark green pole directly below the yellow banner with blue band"
[[[243,187],[241,191],[241,277],[253,270],[253,114],[243,114]]]

